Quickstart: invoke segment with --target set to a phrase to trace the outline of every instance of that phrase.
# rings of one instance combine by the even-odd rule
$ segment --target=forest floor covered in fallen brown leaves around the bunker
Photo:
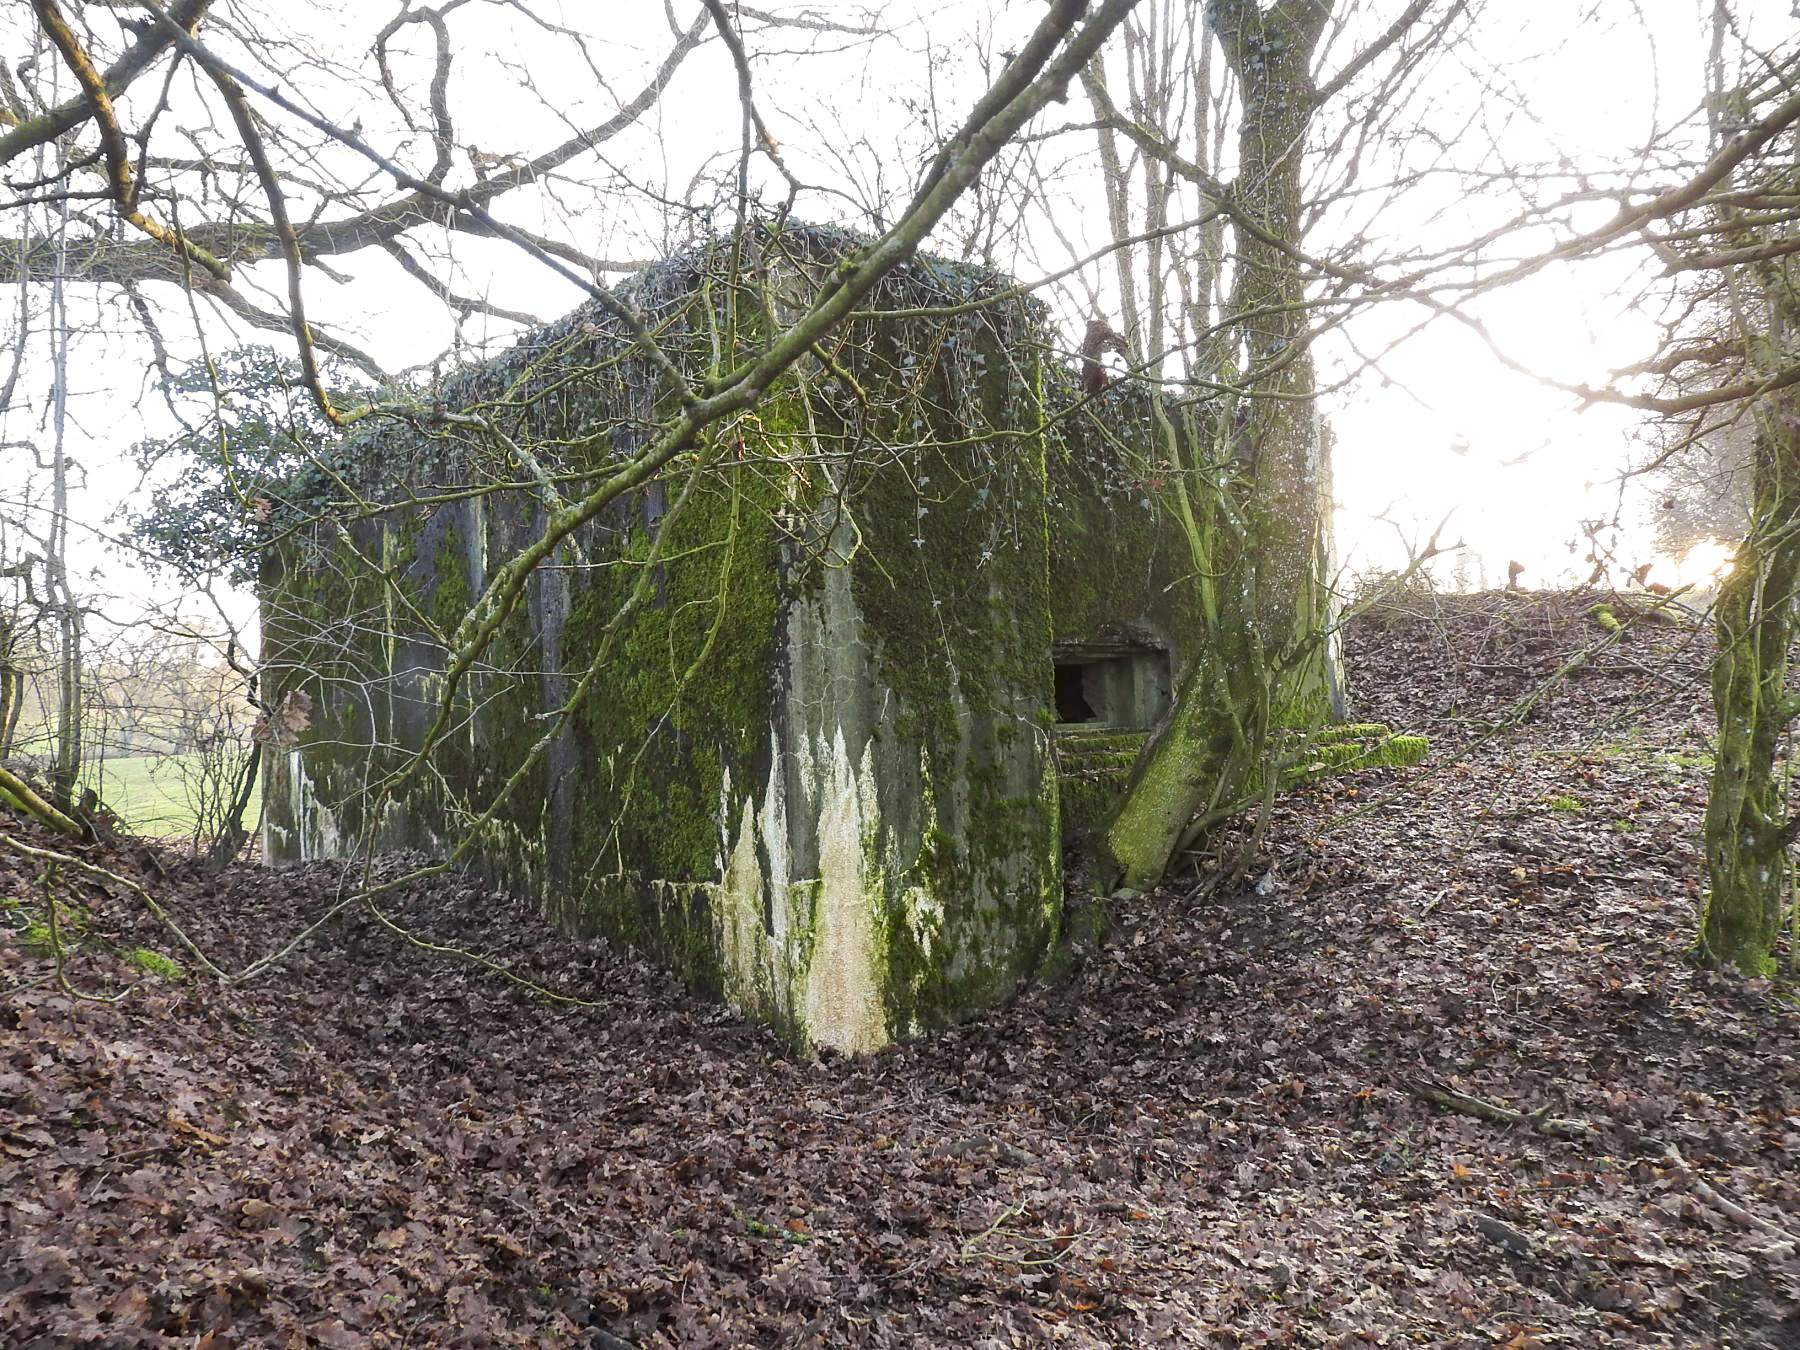
[[[1685,958],[1705,635],[1523,707],[1586,603],[1361,619],[1357,713],[1424,767],[1294,794],[1262,893],[1114,904],[1060,986],[866,1060],[459,880],[162,979],[104,954],[173,950],[139,898],[63,866],[67,985],[0,934],[0,1341],[1800,1346],[1800,985]],[[344,884],[86,857],[221,965]],[[41,887],[0,860],[0,918]]]

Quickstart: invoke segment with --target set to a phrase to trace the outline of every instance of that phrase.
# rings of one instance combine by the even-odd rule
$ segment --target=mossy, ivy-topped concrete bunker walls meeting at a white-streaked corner
[[[704,380],[855,245],[758,232],[625,293]],[[272,693],[315,709],[272,756],[270,857],[473,839],[481,873],[796,1044],[873,1049],[1015,990],[1060,925],[1053,646],[1175,652],[1181,614],[1127,484],[1143,455],[1111,464],[1064,416],[1040,313],[977,304],[1003,288],[909,265],[614,500],[536,572],[423,767],[472,599],[671,391],[585,306],[358,432],[292,484],[265,560]]]

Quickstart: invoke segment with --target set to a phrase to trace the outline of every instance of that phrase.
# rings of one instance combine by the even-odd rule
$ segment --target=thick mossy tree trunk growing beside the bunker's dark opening
[[[1285,729],[1330,711],[1327,466],[1314,409],[1300,245],[1312,50],[1327,4],[1220,0],[1210,22],[1242,88],[1237,274],[1228,322],[1238,391],[1204,425],[1165,419],[1170,508],[1193,553],[1204,655],[1156,729],[1107,832],[1127,886],[1157,882],[1190,833],[1274,781]]]

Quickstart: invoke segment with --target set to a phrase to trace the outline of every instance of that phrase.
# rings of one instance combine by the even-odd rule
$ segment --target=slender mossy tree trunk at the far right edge
[[[1769,265],[1762,290],[1768,333],[1750,347],[1782,362],[1796,313],[1793,265]],[[1791,362],[1791,356],[1787,358]],[[1769,362],[1757,362],[1768,369]],[[1796,713],[1787,688],[1800,581],[1800,396],[1759,400],[1753,517],[1714,610],[1719,650],[1712,697],[1719,749],[1706,799],[1710,889],[1699,923],[1699,956],[1746,976],[1775,970],[1782,904],[1793,880],[1787,844],[1784,742]]]

